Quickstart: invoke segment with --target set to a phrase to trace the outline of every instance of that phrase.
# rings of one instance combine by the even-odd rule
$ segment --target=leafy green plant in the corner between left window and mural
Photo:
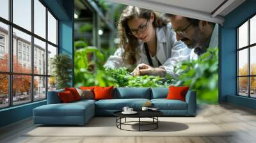
[[[56,79],[57,89],[70,87],[72,80],[72,59],[67,54],[59,54],[51,59],[52,76]]]

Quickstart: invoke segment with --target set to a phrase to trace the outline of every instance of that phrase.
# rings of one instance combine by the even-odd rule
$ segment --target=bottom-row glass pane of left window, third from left
[[[34,77],[34,100],[46,98],[46,77]]]

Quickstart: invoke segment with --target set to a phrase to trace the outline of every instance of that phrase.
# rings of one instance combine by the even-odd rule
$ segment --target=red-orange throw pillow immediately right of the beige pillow
[[[94,99],[95,100],[104,100],[104,99],[113,99],[113,86],[109,87],[100,87],[96,86],[94,88]]]

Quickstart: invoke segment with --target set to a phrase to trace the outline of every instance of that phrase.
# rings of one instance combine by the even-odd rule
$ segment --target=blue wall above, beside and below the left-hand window
[[[74,57],[74,0],[43,0],[59,20],[59,52]],[[74,61],[74,60],[73,60]],[[72,77],[74,75],[74,70]],[[73,85],[73,82],[70,81]],[[15,123],[22,119],[33,116],[35,107],[45,105],[46,101],[18,105],[8,109],[0,110],[0,127]]]

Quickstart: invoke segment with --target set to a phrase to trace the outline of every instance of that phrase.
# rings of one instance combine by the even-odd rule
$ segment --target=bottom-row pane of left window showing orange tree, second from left
[[[13,75],[13,105],[31,102],[31,76]]]

